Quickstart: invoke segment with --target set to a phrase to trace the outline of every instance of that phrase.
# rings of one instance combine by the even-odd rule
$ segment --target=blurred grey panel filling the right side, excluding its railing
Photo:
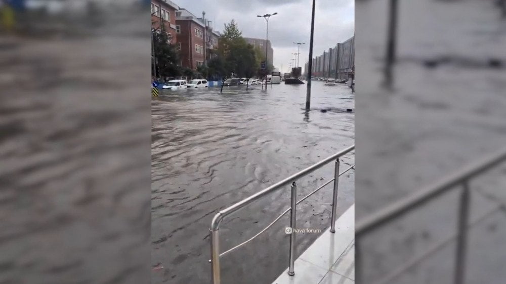
[[[359,227],[506,146],[505,5],[357,0]],[[469,182],[464,255],[456,185],[357,238],[357,282],[503,283],[505,174],[503,162]]]

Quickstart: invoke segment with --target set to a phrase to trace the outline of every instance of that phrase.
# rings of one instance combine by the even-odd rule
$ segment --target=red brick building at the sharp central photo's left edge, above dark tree
[[[151,27],[156,30],[163,28],[171,35],[171,43],[176,44],[176,11],[179,6],[171,0],[151,0]]]

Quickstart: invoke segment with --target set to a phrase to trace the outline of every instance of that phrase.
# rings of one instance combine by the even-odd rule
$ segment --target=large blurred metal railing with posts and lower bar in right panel
[[[475,224],[479,223],[481,220],[490,216],[490,214],[502,209],[505,207],[504,204],[499,204],[494,206],[491,210],[488,210],[484,214],[475,218],[470,222],[469,220],[469,201],[470,201],[470,188],[469,182],[476,178],[477,176],[485,173],[488,169],[499,165],[501,162],[506,161],[506,148],[501,151],[495,153],[494,155],[488,156],[484,158],[481,162],[478,162],[472,166],[466,167],[463,171],[460,171],[447,179],[442,180],[439,183],[436,183],[433,186],[421,189],[417,191],[415,194],[410,195],[404,199],[401,199],[398,202],[393,203],[390,206],[385,207],[382,210],[379,210],[377,213],[372,214],[368,217],[359,220],[355,229],[355,263],[357,267],[357,283],[363,283],[363,263],[362,263],[362,247],[361,247],[361,239],[372,231],[381,228],[386,225],[390,221],[403,216],[404,214],[413,211],[415,208],[425,204],[428,201],[435,200],[438,196],[441,196],[443,193],[450,191],[451,189],[458,188],[461,186],[460,193],[460,204],[458,209],[458,222],[457,222],[457,232],[452,236],[446,238],[442,242],[437,245],[429,248],[424,253],[420,255],[415,255],[409,260],[405,261],[399,267],[390,271],[386,276],[381,279],[378,279],[374,283],[391,283],[393,279],[400,276],[406,270],[412,268],[414,265],[419,263],[420,261],[426,259],[433,253],[439,251],[444,245],[450,243],[451,241],[456,239],[456,250],[455,250],[455,270],[453,274],[453,279],[455,284],[462,284],[465,281],[465,262],[466,262],[466,253],[467,253],[467,237],[468,237],[468,229],[472,228]]]

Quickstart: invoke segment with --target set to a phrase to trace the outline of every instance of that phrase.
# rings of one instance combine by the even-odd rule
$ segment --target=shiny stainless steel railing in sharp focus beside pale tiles
[[[282,216],[284,216],[284,214],[286,214],[288,211],[290,211],[290,228],[294,229],[296,228],[296,211],[297,211],[297,204],[301,203],[302,201],[306,200],[306,198],[310,197],[311,195],[313,195],[314,193],[316,193],[317,191],[319,191],[320,189],[322,189],[323,187],[325,187],[326,185],[330,184],[332,181],[334,182],[334,187],[333,187],[333,193],[332,193],[332,212],[331,212],[331,216],[330,216],[330,232],[334,233],[335,232],[335,215],[336,215],[336,203],[337,203],[337,199],[338,199],[338,185],[339,185],[339,176],[343,175],[344,173],[348,172],[350,169],[354,168],[355,165],[352,165],[350,166],[349,168],[347,168],[345,171],[343,171],[342,173],[339,173],[339,164],[340,164],[340,161],[339,161],[339,158],[346,155],[347,153],[353,151],[355,149],[355,145],[353,146],[350,146],[338,153],[335,153],[333,155],[331,155],[330,157],[327,157],[326,159],[323,159],[305,169],[303,169],[302,171],[300,171],[299,173],[297,174],[294,174],[254,195],[251,195],[235,204],[233,204],[232,206],[226,208],[226,209],[223,209],[223,210],[220,210],[218,213],[216,213],[216,215],[214,216],[213,220],[211,221],[211,226],[209,228],[209,231],[210,231],[210,244],[211,244],[211,259],[209,260],[211,262],[211,267],[212,267],[212,278],[213,278],[213,283],[214,284],[220,284],[221,282],[221,277],[220,277],[220,257],[241,247],[242,245],[244,244],[247,244],[248,242],[250,242],[251,240],[257,238],[258,236],[260,236],[262,233],[264,233],[267,229],[269,229],[275,222],[277,222],[279,219],[281,219]],[[296,184],[296,181],[314,171],[316,171],[316,169],[328,164],[329,162],[331,161],[335,161],[335,168],[334,168],[334,178],[329,180],[328,182],[326,182],[325,184],[323,184],[322,186],[320,186],[319,188],[317,188],[316,190],[314,190],[313,192],[311,192],[310,194],[306,195],[304,198],[302,198],[301,200],[297,201],[297,184]],[[252,238],[248,239],[247,241],[245,242],[242,242],[241,244],[223,252],[223,253],[220,253],[220,239],[219,239],[219,229],[220,229],[220,223],[223,221],[223,219],[236,212],[237,210],[241,209],[241,208],[244,208],[246,207],[248,204],[256,201],[256,200],[259,200],[261,199],[262,197],[265,197],[267,196],[268,194],[271,194],[281,188],[283,188],[284,186],[287,186],[287,185],[291,185],[291,200],[290,200],[290,207],[288,209],[286,209],[281,215],[279,215],[276,219],[274,219],[274,221],[272,221],[265,229],[263,229],[262,231],[260,231],[260,233],[256,234],[255,236],[253,236]],[[293,276],[295,274],[295,271],[294,271],[294,262],[295,262],[295,254],[296,254],[296,251],[295,251],[295,230],[292,230],[291,234],[290,234],[290,244],[289,244],[289,269],[288,269],[288,275],[290,276]]]

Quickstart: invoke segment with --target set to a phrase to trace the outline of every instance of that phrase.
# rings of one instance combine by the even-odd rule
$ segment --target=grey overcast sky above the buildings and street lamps
[[[278,14],[269,20],[269,40],[274,49],[274,66],[288,72],[288,64],[297,45],[301,45],[299,66],[309,56],[311,32],[311,0],[172,0],[197,17],[214,22],[215,29],[223,31],[223,25],[234,19],[244,37],[265,38],[265,20],[257,15]],[[336,43],[352,37],[355,29],[354,0],[316,0],[313,57],[320,55]]]

